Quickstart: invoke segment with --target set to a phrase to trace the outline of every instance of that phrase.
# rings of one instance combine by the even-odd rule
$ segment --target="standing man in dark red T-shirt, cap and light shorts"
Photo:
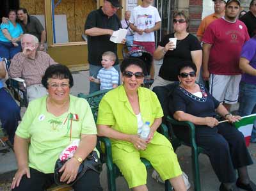
[[[210,93],[230,111],[237,103],[241,70],[239,56],[250,39],[243,22],[237,20],[239,0],[228,0],[225,16],[207,27],[203,42],[203,78],[209,79]]]

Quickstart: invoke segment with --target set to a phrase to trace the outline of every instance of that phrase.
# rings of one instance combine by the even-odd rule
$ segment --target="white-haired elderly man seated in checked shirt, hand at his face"
[[[45,52],[37,51],[38,39],[32,34],[24,34],[21,38],[21,46],[22,52],[12,59],[9,75],[12,78],[21,77],[25,80],[30,102],[47,94],[41,79],[46,68],[56,63]]]

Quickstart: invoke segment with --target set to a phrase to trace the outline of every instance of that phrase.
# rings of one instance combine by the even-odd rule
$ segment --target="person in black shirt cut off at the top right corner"
[[[249,10],[240,20],[244,22],[252,38],[256,34],[256,0],[251,1]]]

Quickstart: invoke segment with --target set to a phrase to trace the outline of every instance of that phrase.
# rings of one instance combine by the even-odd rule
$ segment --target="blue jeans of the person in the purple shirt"
[[[256,112],[256,85],[240,82],[239,85],[239,114],[247,116]],[[256,142],[256,120],[254,121],[251,142]]]

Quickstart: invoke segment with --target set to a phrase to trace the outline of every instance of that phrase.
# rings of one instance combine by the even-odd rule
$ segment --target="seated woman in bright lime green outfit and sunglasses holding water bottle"
[[[111,139],[113,162],[132,190],[148,190],[147,170],[140,157],[147,158],[176,191],[186,190],[172,144],[156,131],[163,117],[159,100],[150,89],[140,87],[143,70],[140,59],[124,59],[120,65],[124,84],[109,91],[99,104],[98,135]],[[145,140],[138,133],[146,121],[150,133]]]

